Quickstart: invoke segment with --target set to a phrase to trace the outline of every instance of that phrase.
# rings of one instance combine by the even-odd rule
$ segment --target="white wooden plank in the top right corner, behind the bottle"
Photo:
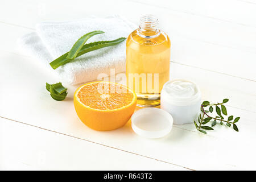
[[[142,3],[143,5],[152,5],[154,7],[163,7],[169,11],[201,16],[209,19],[216,19],[226,23],[236,23],[241,26],[256,27],[256,1],[233,1],[233,0],[129,0]]]

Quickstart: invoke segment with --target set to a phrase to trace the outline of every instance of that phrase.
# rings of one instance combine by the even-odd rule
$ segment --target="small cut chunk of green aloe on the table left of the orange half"
[[[61,82],[56,84],[48,84],[46,82],[46,89],[50,92],[51,97],[56,101],[62,101],[67,96],[67,88],[65,88]]]

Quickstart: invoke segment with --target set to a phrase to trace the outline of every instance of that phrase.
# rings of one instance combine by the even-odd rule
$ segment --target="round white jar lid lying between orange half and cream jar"
[[[170,113],[154,107],[140,109],[131,116],[133,131],[146,138],[164,137],[172,130],[173,122]]]

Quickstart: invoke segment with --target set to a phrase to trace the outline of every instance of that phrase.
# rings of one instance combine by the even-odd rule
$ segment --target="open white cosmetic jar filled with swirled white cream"
[[[201,92],[199,87],[187,80],[167,81],[161,90],[161,109],[174,118],[174,124],[192,123],[200,113]]]

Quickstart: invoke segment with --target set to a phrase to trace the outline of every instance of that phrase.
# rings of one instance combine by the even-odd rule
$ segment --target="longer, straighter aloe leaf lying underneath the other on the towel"
[[[100,42],[93,42],[93,43],[85,44],[80,49],[79,53],[77,53],[76,57],[84,55],[85,53],[90,52],[90,51],[94,51],[94,50],[101,49],[101,48],[108,47],[108,46],[114,46],[116,44],[123,42],[123,40],[125,40],[125,39],[126,38],[118,38],[115,40],[100,41]],[[64,65],[64,64],[68,63],[69,61],[71,61],[71,59],[67,58],[68,53],[69,52],[65,53],[64,55],[58,57],[57,59],[55,59],[51,63],[49,63],[51,65],[51,67],[53,69],[56,69],[56,68],[59,68],[61,65]]]

